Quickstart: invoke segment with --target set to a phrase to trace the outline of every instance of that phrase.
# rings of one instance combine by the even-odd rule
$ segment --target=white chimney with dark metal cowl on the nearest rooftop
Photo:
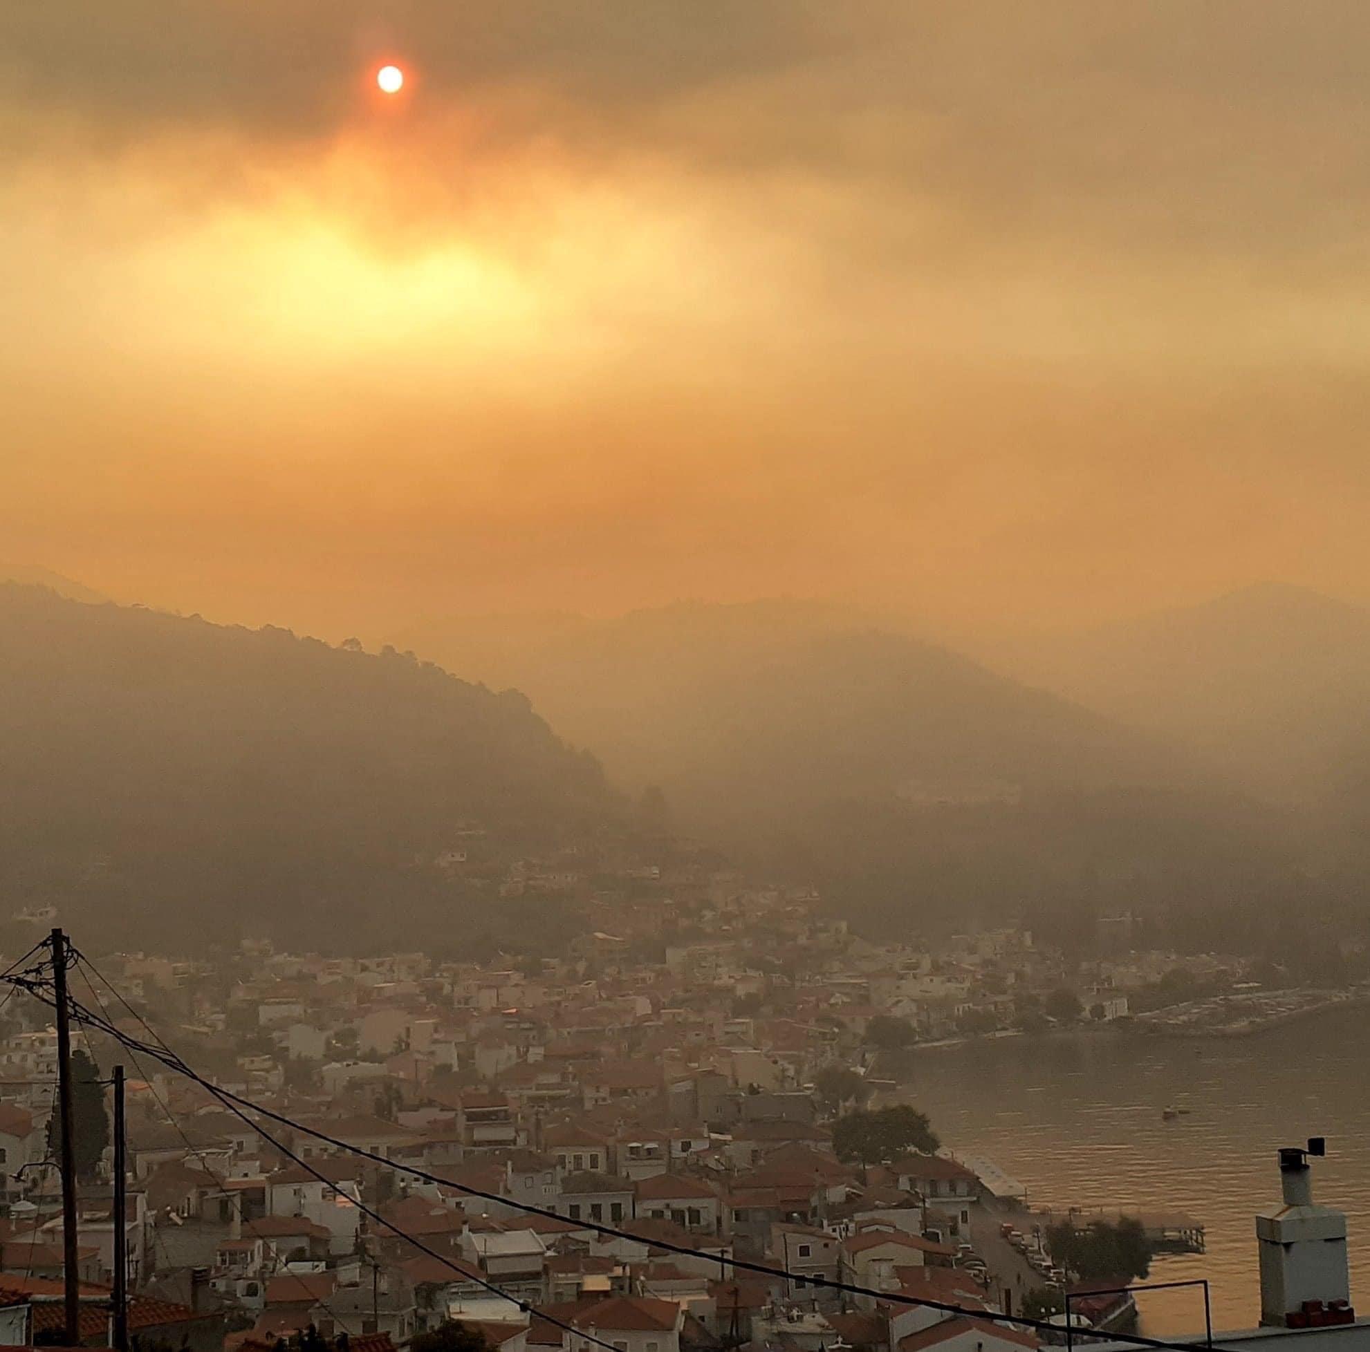
[[[1310,1155],[1323,1155],[1322,1137],[1307,1149],[1280,1152],[1278,1207],[1256,1212],[1260,1249],[1260,1322],[1289,1329],[1351,1323],[1347,1218],[1312,1201]]]

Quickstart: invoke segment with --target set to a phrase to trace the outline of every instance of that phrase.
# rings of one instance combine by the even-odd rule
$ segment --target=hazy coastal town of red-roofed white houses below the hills
[[[526,860],[496,890],[571,915],[564,952],[249,940],[215,962],[81,959],[74,999],[105,1022],[75,1057],[90,1084],[129,1077],[144,1345],[382,1352],[460,1326],[508,1352],[1014,1352],[1049,1325],[975,1311],[1060,1319],[1069,1293],[1064,1318],[1115,1327],[1130,1301],[1093,1292],[1201,1251],[1191,1218],[1029,1212],[904,1103],[900,1066],[956,1040],[1129,1036],[1174,992],[1234,992],[1252,1022],[1243,962],[1137,951],[1122,922],[1086,960],[1019,929],[881,944],[811,890],[703,867],[590,888],[573,859]],[[1270,999],[1281,1016],[1310,1003]],[[29,1320],[11,1342],[59,1315],[51,1018],[21,992],[3,1011],[0,1292]],[[81,1188],[95,1329],[115,1262],[107,1123]],[[1091,1257],[1104,1240],[1114,1256]]]

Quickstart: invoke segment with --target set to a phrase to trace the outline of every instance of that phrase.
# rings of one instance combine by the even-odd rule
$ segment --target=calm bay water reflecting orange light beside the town
[[[1280,1196],[1275,1151],[1328,1137],[1314,1197],[1347,1212],[1352,1304],[1370,1312],[1370,1014],[1336,1010],[1245,1038],[1014,1037],[910,1055],[900,1097],[943,1141],[985,1155],[1040,1205],[1185,1211],[1207,1252],[1152,1281],[1207,1277],[1215,1329],[1260,1318],[1254,1215]],[[1167,1104],[1189,1108],[1162,1121]],[[1359,1299],[1358,1299],[1359,1297]],[[1203,1327],[1195,1288],[1140,1296],[1143,1331]]]

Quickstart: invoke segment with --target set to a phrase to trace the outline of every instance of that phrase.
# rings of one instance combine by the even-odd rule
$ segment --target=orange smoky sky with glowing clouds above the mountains
[[[0,560],[330,637],[1370,594],[1367,89],[1359,0],[7,5]]]

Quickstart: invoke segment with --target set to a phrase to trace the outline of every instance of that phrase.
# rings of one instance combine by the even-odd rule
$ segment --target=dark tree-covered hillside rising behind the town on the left
[[[407,925],[455,916],[426,860],[463,823],[516,856],[615,810],[521,694],[393,651],[0,585],[10,911],[56,904],[116,942],[403,947]]]

